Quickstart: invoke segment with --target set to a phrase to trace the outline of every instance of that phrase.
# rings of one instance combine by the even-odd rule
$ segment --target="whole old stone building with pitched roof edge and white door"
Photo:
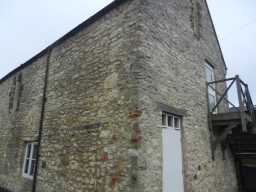
[[[204,0],[112,2],[0,80],[1,190],[238,191],[208,128],[225,74]]]

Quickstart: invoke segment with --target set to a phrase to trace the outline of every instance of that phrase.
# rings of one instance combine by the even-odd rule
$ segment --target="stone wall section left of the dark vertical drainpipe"
[[[0,84],[0,187],[13,192],[32,190],[22,168],[25,144],[38,135],[45,63],[42,57]]]

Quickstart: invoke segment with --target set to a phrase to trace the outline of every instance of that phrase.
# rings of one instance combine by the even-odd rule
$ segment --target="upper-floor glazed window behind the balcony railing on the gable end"
[[[205,78],[207,82],[212,82],[215,81],[215,76],[214,76],[214,68],[206,62],[205,64]],[[211,112],[217,112],[217,109],[215,109],[214,111],[213,108],[215,107],[216,103],[217,103],[217,98],[216,98],[216,92],[215,92],[215,86],[214,84],[211,84],[208,87],[208,105],[209,105],[209,109]]]

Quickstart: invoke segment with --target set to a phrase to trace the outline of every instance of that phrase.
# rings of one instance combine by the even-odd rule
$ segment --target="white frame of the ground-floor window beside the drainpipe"
[[[30,154],[28,154],[28,147],[29,147],[29,145],[31,145]],[[31,173],[31,169],[32,169],[32,162],[33,161],[36,162],[36,158],[33,158],[33,154],[36,152],[34,150],[35,146],[38,146],[37,143],[33,143],[33,142],[26,143],[22,175],[23,175],[23,177],[25,177],[27,179],[33,179],[34,178],[34,172],[32,173],[32,175],[30,173]],[[25,172],[25,170],[26,170],[26,162],[27,161],[28,161],[28,170],[27,170],[27,172]]]

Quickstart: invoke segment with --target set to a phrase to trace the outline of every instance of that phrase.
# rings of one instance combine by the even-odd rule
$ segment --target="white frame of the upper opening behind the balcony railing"
[[[208,79],[208,72],[210,73],[210,79]],[[215,81],[215,73],[214,73],[214,67],[209,64],[207,61],[205,63],[205,79],[207,82],[212,82],[212,81]],[[211,85],[213,86],[213,88],[215,89],[215,85]],[[216,95],[216,91],[211,88],[211,87],[208,87],[208,105],[209,105],[209,108],[211,108],[210,106],[210,96],[214,97],[214,104],[216,105],[217,104],[217,95]],[[212,109],[210,109],[212,110]],[[213,113],[217,113],[218,112],[218,109],[216,108]]]

